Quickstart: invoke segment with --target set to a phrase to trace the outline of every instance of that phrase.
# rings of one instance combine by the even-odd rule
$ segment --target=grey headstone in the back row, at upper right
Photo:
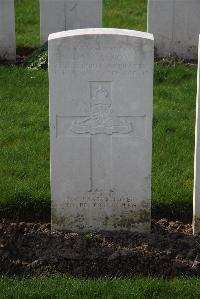
[[[149,0],[148,32],[154,34],[156,54],[197,59],[199,20],[199,0]]]

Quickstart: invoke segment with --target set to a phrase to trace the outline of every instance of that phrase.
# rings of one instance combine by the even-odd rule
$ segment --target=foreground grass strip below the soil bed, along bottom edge
[[[197,299],[200,298],[200,279],[2,278],[0,290],[0,299]]]

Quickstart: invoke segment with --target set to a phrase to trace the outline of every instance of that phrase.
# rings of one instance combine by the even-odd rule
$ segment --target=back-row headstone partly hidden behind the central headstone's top
[[[102,0],[40,0],[41,44],[50,33],[102,27]]]

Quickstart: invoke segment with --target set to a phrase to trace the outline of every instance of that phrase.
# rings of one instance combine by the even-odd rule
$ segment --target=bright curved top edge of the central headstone
[[[49,35],[48,40],[54,40],[64,37],[73,37],[81,35],[122,35],[122,36],[131,36],[144,38],[148,40],[154,40],[154,36],[151,33],[129,30],[129,29],[116,29],[116,28],[87,28],[87,29],[75,29],[68,31],[61,31],[57,33],[52,33]]]

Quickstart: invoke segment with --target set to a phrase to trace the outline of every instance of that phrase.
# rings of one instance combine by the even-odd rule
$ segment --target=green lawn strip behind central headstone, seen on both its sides
[[[0,67],[0,215],[50,211],[48,76]],[[192,215],[196,66],[155,66],[153,215]],[[30,211],[30,212],[29,212]]]

